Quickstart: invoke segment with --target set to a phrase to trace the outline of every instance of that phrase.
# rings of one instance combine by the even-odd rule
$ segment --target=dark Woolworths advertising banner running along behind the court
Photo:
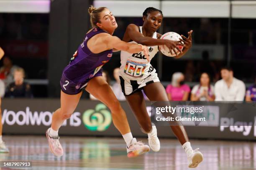
[[[147,137],[141,131],[128,103],[126,101],[120,103],[126,112],[133,135]],[[159,137],[175,138],[169,125],[176,125],[175,122],[180,122],[185,126],[189,138],[256,139],[255,102],[170,102],[170,107],[165,107],[165,109],[170,109],[171,112],[175,110],[173,115],[176,117],[174,119],[178,119],[177,117],[180,119],[175,122],[157,121],[159,119],[157,117],[165,118],[165,116],[156,113],[156,110],[161,109],[156,109],[156,103],[147,102],[147,110],[148,115],[151,116],[151,122],[157,127]],[[159,105],[163,106],[164,104],[160,103]],[[44,135],[46,129],[51,126],[53,112],[59,107],[59,99],[4,99],[2,100],[3,133],[7,135]],[[195,117],[201,118],[201,120],[193,120]],[[79,102],[70,119],[63,123],[59,134],[121,136],[113,125],[108,107],[99,101],[91,100]]]

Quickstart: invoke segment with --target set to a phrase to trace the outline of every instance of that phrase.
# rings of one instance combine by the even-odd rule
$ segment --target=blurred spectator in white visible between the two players
[[[120,86],[119,70],[120,70],[120,68],[117,67],[113,71],[113,76],[115,78],[115,83],[112,85],[112,90],[115,94],[115,97],[118,100],[125,100],[125,96],[123,95],[123,92],[122,92],[122,89],[121,89],[121,86]]]

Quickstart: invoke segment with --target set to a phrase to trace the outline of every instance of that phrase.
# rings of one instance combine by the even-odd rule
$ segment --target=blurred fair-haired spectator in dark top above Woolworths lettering
[[[24,82],[25,71],[23,68],[14,70],[14,82],[8,85],[5,97],[33,97],[30,85]]]

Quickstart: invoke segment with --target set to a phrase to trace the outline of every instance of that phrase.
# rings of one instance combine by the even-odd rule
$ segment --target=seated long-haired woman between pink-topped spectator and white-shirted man
[[[191,91],[192,101],[214,101],[214,87],[210,84],[210,76],[203,72],[200,76],[200,84],[195,85]]]

